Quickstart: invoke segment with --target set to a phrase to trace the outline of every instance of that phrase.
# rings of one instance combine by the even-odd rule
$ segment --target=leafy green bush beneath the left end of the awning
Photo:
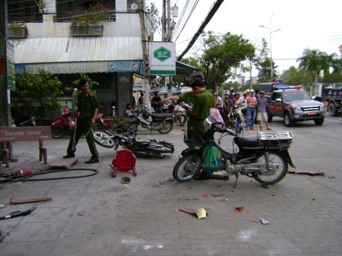
[[[63,95],[61,86],[62,82],[57,76],[53,76],[44,69],[39,69],[37,75],[28,72],[16,75],[15,95],[24,103],[27,113],[36,114],[33,103],[37,102],[46,107],[51,116],[53,111],[61,107],[57,101],[57,98]]]

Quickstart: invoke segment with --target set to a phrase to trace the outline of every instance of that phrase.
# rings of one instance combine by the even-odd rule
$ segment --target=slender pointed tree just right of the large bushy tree
[[[271,72],[271,66],[273,66],[273,76],[278,77],[276,68],[278,66],[275,65],[274,61],[271,60],[271,58],[268,57],[268,51],[269,49],[267,48],[267,42],[263,38],[261,40],[261,49],[259,49],[259,57],[256,57],[255,63],[256,63],[256,68],[259,71],[259,82],[269,82],[271,81],[272,78],[272,72]],[[272,61],[272,65],[271,65]]]

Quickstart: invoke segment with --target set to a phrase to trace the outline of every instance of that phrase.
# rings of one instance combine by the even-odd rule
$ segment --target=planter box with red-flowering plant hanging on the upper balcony
[[[103,26],[100,21],[107,20],[109,9],[100,3],[91,4],[83,11],[71,13],[73,22],[70,23],[71,36],[102,36]]]

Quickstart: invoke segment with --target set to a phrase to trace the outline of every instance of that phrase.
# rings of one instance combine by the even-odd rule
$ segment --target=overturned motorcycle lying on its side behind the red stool
[[[95,131],[95,142],[105,148],[123,149],[132,151],[136,156],[152,156],[164,158],[166,153],[174,152],[172,142],[158,139],[136,139],[136,130],[119,135],[114,131]]]

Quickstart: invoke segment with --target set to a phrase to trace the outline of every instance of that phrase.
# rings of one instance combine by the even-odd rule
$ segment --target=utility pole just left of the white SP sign
[[[140,31],[141,31],[141,52],[142,52],[142,65],[143,65],[143,82],[145,85],[145,95],[143,102],[147,108],[151,109],[151,92],[149,80],[149,67],[148,67],[148,54],[146,46],[146,28],[145,28],[145,4],[143,0],[138,0],[139,18],[140,18]]]

